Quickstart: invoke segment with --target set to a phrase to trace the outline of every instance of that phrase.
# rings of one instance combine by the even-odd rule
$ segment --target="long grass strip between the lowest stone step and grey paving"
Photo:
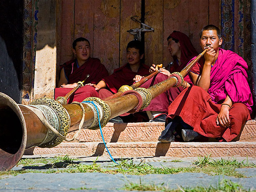
[[[107,167],[102,167],[96,163],[97,159],[92,164],[86,165],[76,162],[74,158],[68,155],[64,157],[54,158],[36,158],[36,159],[22,159],[19,165],[26,166],[24,170],[9,170],[7,172],[0,172],[0,176],[17,175],[27,172],[41,172],[41,173],[77,173],[77,172],[100,172],[109,174],[178,174],[184,172],[203,172],[208,175],[226,175],[234,177],[245,177],[236,171],[236,168],[256,167],[255,164],[247,161],[238,162],[236,159],[229,160],[213,160],[210,156],[198,157],[198,160],[188,167],[154,167],[148,163],[140,162],[134,163],[132,159],[121,159],[119,165],[111,164]],[[180,161],[175,161],[180,162]],[[28,169],[31,166],[31,169]],[[33,167],[38,166],[33,169]],[[65,169],[61,169],[65,168]]]

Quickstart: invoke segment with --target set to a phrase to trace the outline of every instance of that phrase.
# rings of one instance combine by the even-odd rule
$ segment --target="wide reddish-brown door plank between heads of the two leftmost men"
[[[120,2],[102,0],[94,2],[94,50],[111,74],[119,67]]]

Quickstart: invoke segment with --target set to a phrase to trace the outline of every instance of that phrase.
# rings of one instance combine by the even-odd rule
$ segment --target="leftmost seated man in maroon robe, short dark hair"
[[[89,84],[100,82],[100,79],[108,76],[108,70],[100,63],[98,58],[90,57],[90,42],[86,38],[77,38],[72,46],[76,59],[60,66],[59,88],[55,89],[54,98],[65,96],[77,86],[77,82],[82,82],[87,74],[90,76],[84,82],[85,86],[76,90],[73,96],[68,99],[68,103],[73,101],[82,102],[87,97],[98,97],[98,92]]]

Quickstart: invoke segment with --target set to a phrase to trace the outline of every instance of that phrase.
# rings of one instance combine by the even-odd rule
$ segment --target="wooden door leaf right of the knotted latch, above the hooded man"
[[[145,62],[163,62],[166,65],[172,61],[167,37],[174,30],[188,35],[196,50],[201,52],[200,30],[207,24],[220,26],[219,7],[219,0],[146,0],[146,22],[156,30],[152,34],[145,34],[145,47],[149,53]]]

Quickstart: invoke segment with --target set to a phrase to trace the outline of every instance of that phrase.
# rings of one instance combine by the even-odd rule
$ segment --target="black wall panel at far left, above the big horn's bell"
[[[23,0],[0,1],[0,92],[20,103]]]

